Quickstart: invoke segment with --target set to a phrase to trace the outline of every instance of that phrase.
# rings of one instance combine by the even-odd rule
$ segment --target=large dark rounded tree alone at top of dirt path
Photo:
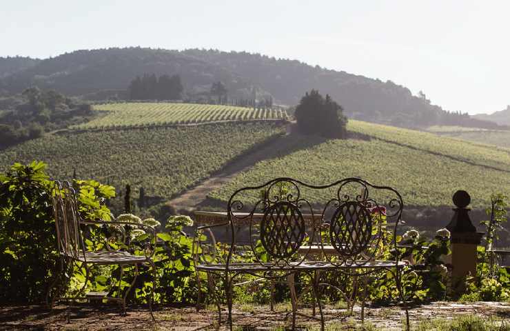
[[[327,138],[345,137],[347,117],[343,108],[328,94],[324,98],[318,90],[307,92],[294,113],[298,129],[304,134],[319,134]]]

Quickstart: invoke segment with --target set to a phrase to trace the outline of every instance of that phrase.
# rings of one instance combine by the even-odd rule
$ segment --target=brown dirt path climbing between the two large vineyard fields
[[[170,205],[176,209],[185,208],[193,210],[198,207],[203,201],[207,199],[210,192],[220,188],[224,183],[232,180],[237,174],[251,168],[255,163],[265,159],[273,159],[281,157],[284,154],[292,152],[298,146],[298,139],[292,134],[278,137],[271,143],[258,148],[249,154],[237,159],[233,163],[227,165],[221,172],[214,174],[209,179],[198,183],[194,188],[186,190],[179,197],[170,200]]]

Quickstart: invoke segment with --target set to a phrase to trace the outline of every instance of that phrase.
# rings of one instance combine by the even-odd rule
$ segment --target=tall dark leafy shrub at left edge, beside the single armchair
[[[44,298],[57,260],[46,165],[14,163],[0,174],[0,301]]]

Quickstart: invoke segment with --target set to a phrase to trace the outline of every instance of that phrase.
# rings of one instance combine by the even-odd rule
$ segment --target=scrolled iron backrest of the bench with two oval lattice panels
[[[402,198],[393,188],[356,178],[319,186],[277,178],[241,188],[227,205],[232,236],[227,263],[240,250],[237,237],[243,237],[242,229],[248,228],[244,237],[249,237],[252,254],[268,269],[298,267],[314,259],[311,254],[318,247],[323,255],[329,254],[331,263],[362,266],[380,258],[382,245],[387,244],[386,225],[394,223],[396,233],[402,207]]]

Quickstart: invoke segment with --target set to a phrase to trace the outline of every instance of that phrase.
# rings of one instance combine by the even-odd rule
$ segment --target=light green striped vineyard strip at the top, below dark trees
[[[94,110],[100,113],[99,117],[72,128],[96,130],[287,118],[285,110],[198,103],[109,103],[94,106]]]

